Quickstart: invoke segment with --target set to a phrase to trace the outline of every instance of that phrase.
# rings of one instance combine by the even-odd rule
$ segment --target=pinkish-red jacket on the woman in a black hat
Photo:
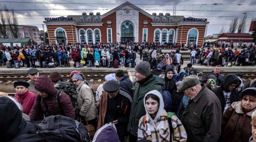
[[[22,112],[29,115],[30,110],[35,104],[37,96],[34,93],[27,90],[23,94],[18,94],[16,92],[14,98],[17,102],[19,102],[22,105]]]

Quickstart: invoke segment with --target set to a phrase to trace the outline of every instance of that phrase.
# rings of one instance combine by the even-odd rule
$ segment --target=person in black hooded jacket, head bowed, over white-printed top
[[[240,84],[241,80],[236,76],[236,74],[231,73],[224,78],[221,86],[213,90],[221,102],[222,114],[233,102],[241,100],[236,89]]]

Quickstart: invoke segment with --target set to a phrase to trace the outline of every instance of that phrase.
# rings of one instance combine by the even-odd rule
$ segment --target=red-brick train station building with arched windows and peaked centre
[[[128,1],[101,15],[82,13],[67,17],[45,17],[49,42],[172,42],[203,45],[206,18],[173,16],[143,11]]]

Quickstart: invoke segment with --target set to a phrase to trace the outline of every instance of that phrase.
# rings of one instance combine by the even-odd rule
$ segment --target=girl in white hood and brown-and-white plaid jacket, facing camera
[[[139,120],[138,140],[147,139],[152,142],[187,141],[187,133],[180,120],[176,115],[166,113],[163,106],[162,95],[157,90],[152,90],[145,95],[146,115]]]

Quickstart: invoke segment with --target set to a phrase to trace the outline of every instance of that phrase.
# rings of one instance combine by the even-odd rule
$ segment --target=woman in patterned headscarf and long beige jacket
[[[79,115],[82,119],[86,119],[89,124],[97,127],[97,109],[93,92],[83,80],[80,74],[74,74],[72,76],[72,81],[76,85],[76,92],[78,93]]]

